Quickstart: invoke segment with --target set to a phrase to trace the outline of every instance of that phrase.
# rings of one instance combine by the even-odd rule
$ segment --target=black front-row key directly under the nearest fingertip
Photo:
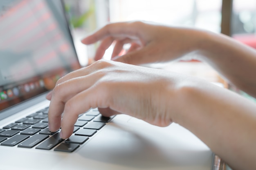
[[[57,144],[61,143],[64,139],[60,138],[60,133],[56,133],[42,142],[40,145],[36,147],[36,149],[45,149],[50,150],[54,148]]]

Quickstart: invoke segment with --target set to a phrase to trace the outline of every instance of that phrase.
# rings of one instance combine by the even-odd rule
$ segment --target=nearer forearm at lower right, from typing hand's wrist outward
[[[256,105],[203,82],[182,85],[173,117],[234,169],[256,168]],[[178,107],[178,108],[179,108]]]

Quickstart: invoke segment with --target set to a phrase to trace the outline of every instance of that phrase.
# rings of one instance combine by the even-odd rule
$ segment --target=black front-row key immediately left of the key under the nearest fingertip
[[[21,144],[19,144],[18,147],[21,147],[21,148],[33,148],[37,144],[43,142],[48,137],[49,137],[48,135],[36,134],[36,135],[30,137],[29,139],[25,140]]]

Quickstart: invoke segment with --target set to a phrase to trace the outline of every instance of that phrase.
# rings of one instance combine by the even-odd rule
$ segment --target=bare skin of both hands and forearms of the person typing
[[[231,168],[256,169],[254,102],[201,79],[138,66],[193,53],[229,83],[256,97],[256,52],[252,48],[224,35],[143,22],[108,24],[82,40],[84,44],[97,41],[101,41],[97,62],[62,77],[47,95],[51,131],[61,127],[61,137],[66,139],[79,114],[99,107],[103,116],[127,114],[157,126],[176,122]],[[114,61],[101,60],[113,43]],[[130,49],[118,56],[126,43]]]

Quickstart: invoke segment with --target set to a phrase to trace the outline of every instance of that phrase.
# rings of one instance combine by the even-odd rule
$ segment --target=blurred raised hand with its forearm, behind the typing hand
[[[256,51],[231,37],[190,28],[121,22],[104,26],[82,42],[92,44],[99,40],[95,60],[101,59],[114,41],[112,60],[134,65],[171,61],[193,53],[229,83],[256,97]],[[130,49],[118,56],[126,43],[131,44]]]

